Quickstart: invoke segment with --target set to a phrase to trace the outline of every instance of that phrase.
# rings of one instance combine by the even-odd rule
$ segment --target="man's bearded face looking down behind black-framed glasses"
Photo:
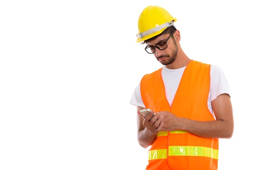
[[[157,37],[157,39],[151,40],[147,42],[147,46],[155,46],[155,44],[159,44],[164,42],[169,37],[169,34],[161,35]],[[155,48],[155,52],[153,53],[156,59],[162,63],[162,65],[169,65],[175,61],[178,53],[177,43],[173,40],[173,37],[168,39],[166,42],[167,48],[164,50],[159,50]]]

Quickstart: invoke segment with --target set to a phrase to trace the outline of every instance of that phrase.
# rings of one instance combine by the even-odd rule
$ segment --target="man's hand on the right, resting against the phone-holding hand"
[[[162,120],[163,122],[162,131],[178,130],[180,118],[178,118],[173,113],[170,113],[168,111],[159,111],[157,113],[159,113],[160,116],[164,117],[164,119]]]

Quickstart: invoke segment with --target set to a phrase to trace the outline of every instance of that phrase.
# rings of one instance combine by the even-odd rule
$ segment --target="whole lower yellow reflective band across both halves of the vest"
[[[169,146],[168,156],[201,156],[218,159],[219,150],[202,146]],[[148,160],[166,159],[167,149],[148,151]]]

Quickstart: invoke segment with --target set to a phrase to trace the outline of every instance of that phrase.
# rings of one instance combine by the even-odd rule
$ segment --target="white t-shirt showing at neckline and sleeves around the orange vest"
[[[182,74],[186,66],[179,69],[168,69],[165,66],[162,68],[162,78],[164,81],[166,98],[171,106],[173,98],[179,86]],[[229,84],[227,78],[222,70],[217,65],[211,65],[211,85],[208,96],[208,108],[213,114],[213,109],[211,107],[211,101],[216,99],[220,94],[229,94]],[[170,87],[170,88],[168,88]],[[175,89],[175,90],[174,90]],[[230,94],[229,94],[230,95]],[[140,93],[140,83],[135,88],[132,98],[130,99],[130,104],[140,107],[145,107]],[[214,115],[214,114],[213,114]]]

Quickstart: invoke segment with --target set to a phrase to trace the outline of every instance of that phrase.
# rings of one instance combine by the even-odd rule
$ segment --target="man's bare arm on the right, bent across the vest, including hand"
[[[195,121],[178,118],[169,112],[160,112],[164,116],[164,125],[161,131],[184,130],[191,134],[206,138],[230,138],[234,131],[234,118],[230,96],[221,94],[212,101],[216,120]]]

